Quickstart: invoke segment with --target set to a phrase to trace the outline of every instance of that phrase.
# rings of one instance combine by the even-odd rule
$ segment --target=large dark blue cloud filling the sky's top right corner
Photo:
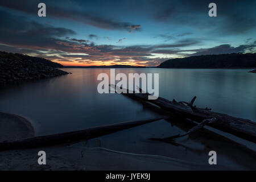
[[[174,23],[208,30],[211,34],[243,34],[256,27],[256,1],[216,0],[217,17],[208,16],[208,5],[212,1],[152,1],[156,12],[154,18],[160,22]]]

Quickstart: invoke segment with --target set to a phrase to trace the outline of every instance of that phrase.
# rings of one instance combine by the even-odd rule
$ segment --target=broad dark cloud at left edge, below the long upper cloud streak
[[[2,10],[0,10],[0,17],[0,24],[5,25],[0,29],[0,43],[2,44],[23,48],[51,49],[63,36],[76,34],[68,28],[43,25]]]

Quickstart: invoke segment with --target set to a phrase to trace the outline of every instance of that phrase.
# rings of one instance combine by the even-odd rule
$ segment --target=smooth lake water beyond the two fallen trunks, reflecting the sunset
[[[0,110],[30,118],[38,135],[155,115],[121,94],[99,94],[97,76],[109,69],[64,69],[72,75],[1,89]],[[256,121],[256,74],[247,69],[115,69],[159,73],[159,96],[190,101]]]

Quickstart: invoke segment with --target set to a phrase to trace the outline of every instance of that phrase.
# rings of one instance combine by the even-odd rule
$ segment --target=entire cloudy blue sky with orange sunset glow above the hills
[[[46,4],[46,17],[38,4]],[[210,17],[209,3],[217,16]],[[0,1],[0,50],[63,65],[155,67],[178,57],[256,52],[256,1]]]

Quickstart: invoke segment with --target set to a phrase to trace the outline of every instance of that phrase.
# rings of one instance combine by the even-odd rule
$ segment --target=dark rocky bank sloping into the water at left
[[[68,72],[24,59],[0,59],[0,84],[67,75]]]

